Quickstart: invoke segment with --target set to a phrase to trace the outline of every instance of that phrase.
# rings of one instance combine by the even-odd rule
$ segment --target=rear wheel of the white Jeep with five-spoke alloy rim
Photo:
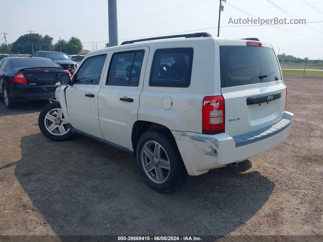
[[[160,147],[159,152],[156,152],[156,147],[157,151]],[[162,130],[147,131],[141,135],[137,144],[137,163],[147,184],[160,193],[179,189],[187,178],[174,138],[165,135]]]

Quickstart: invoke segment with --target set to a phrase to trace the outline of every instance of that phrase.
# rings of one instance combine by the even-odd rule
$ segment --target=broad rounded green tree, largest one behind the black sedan
[[[33,38],[34,51],[44,50],[44,39],[40,34],[31,34]],[[31,36],[30,34],[25,34],[17,38],[13,43],[11,52],[19,54],[33,54],[31,47]]]

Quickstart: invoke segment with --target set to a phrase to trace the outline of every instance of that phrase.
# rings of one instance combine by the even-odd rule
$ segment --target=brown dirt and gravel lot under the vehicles
[[[282,144],[236,169],[190,176],[166,195],[144,183],[128,153],[81,135],[68,142],[45,138],[37,118],[46,102],[8,110],[1,100],[0,240],[323,235],[323,78],[285,81],[294,120]]]

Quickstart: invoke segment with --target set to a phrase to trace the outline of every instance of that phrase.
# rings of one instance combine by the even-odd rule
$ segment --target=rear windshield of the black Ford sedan
[[[12,62],[16,69],[31,67],[60,67],[56,62],[50,59],[34,59],[34,58],[12,58]]]

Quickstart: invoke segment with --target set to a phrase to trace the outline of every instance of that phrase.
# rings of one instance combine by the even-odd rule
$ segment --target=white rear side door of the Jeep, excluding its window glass
[[[105,85],[108,69],[104,73],[102,88],[98,94],[99,123],[105,140],[132,149],[131,132],[133,124],[138,120],[139,97],[142,92],[143,79],[147,58],[148,47],[126,48],[122,51],[145,50],[142,60],[139,86],[114,86]],[[107,63],[110,63],[114,52],[111,51]],[[120,101],[120,98],[132,98],[133,102]]]

